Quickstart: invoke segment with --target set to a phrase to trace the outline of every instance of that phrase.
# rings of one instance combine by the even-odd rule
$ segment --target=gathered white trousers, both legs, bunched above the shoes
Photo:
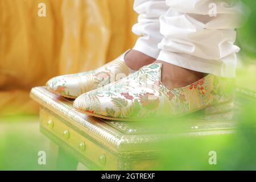
[[[236,0],[135,0],[134,48],[155,59],[221,77],[236,76],[236,31],[248,9]],[[241,21],[242,20],[242,21]]]

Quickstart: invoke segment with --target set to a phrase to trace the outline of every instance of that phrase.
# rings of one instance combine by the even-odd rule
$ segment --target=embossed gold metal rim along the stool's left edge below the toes
[[[108,124],[97,118],[90,119],[85,114],[79,113],[73,109],[71,101],[49,92],[44,87],[32,89],[30,96],[40,105],[71,122],[74,127],[78,127],[92,138],[97,138],[97,142],[111,145],[117,150],[119,143],[122,141],[123,134],[121,132],[109,127]]]

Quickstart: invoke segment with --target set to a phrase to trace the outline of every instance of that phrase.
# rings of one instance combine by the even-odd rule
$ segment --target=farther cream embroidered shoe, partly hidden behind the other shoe
[[[127,52],[95,71],[54,77],[47,82],[47,88],[60,96],[76,98],[82,93],[126,77],[134,72],[125,64]]]

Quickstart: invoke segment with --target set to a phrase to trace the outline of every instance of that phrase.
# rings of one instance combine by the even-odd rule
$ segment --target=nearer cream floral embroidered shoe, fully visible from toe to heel
[[[76,109],[95,117],[138,121],[177,117],[204,110],[206,116],[229,113],[233,107],[233,79],[208,75],[179,89],[167,89],[162,64],[150,64],[122,80],[82,94]]]

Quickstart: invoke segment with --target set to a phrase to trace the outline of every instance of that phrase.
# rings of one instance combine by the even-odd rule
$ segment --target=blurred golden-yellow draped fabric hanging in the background
[[[0,0],[0,115],[37,113],[32,87],[133,47],[136,19],[132,0]]]

